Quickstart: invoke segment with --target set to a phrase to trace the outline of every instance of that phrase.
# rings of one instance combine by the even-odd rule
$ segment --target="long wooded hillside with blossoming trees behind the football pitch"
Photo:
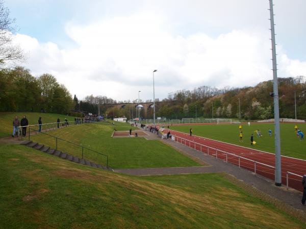
[[[279,113],[282,118],[295,118],[295,99],[297,118],[306,119],[306,79],[303,76],[278,78]],[[246,120],[270,119],[273,113],[273,81],[264,81],[255,87],[217,89],[209,86],[201,86],[193,90],[179,90],[169,93],[162,101],[156,100],[156,117],[167,119],[182,118],[241,118]],[[95,110],[100,104],[100,113],[109,117],[135,118],[138,116],[136,101],[116,102],[104,97],[105,102],[99,102],[99,97],[86,97],[86,102],[95,104]],[[91,99],[89,99],[91,98]],[[151,102],[151,101],[150,101]],[[110,104],[126,103],[123,107],[110,106]],[[240,103],[240,115],[239,115]],[[148,108],[146,115],[140,110],[140,117],[152,119],[153,109]]]

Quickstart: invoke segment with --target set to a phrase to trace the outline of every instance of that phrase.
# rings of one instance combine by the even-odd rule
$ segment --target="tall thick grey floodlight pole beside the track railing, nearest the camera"
[[[274,31],[273,1],[270,3],[270,24],[271,24],[271,43],[272,43],[272,65],[273,65],[273,99],[274,99],[274,142],[275,142],[275,185],[282,186],[282,164],[281,164],[281,139],[279,128],[279,107],[278,107],[278,85],[277,85],[277,64]]]

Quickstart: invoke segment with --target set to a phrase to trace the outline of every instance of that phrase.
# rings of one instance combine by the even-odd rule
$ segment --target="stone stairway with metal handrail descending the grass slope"
[[[44,146],[44,145],[39,145],[37,142],[25,140],[25,141],[21,142],[21,145],[31,147],[35,150],[39,150],[39,151],[47,153],[47,154],[58,156],[62,159],[66,159],[66,160],[69,160],[69,161],[72,161],[72,162],[75,162],[75,163],[79,163],[79,164],[83,164],[83,165],[87,165],[87,166],[91,166],[91,167],[95,167],[95,168],[101,168],[101,169],[106,169],[106,170],[113,171],[113,169],[111,167],[107,168],[104,165],[96,164],[96,163],[88,161],[86,159],[82,159],[82,158],[75,157],[75,156],[67,154],[67,153],[63,153],[62,151],[55,150],[55,149],[50,149],[50,147],[47,147],[47,146]]]

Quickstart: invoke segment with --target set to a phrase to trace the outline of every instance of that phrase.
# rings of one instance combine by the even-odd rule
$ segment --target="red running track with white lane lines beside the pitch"
[[[164,133],[168,133],[168,130],[164,129]],[[236,165],[239,165],[238,157],[233,155],[227,155],[226,153],[221,151],[235,154],[237,156],[241,156],[260,163],[264,163],[273,167],[275,166],[275,155],[271,153],[240,147],[205,137],[199,137],[195,135],[190,136],[187,133],[174,131],[174,130],[171,130],[171,134],[175,136],[175,141],[178,141],[179,143],[182,143],[187,146],[190,145],[191,148],[194,148],[203,153],[208,153],[209,155],[212,155],[214,157],[217,157],[225,161],[227,157],[227,162],[231,162]],[[186,140],[182,138],[185,138]],[[200,144],[204,146],[200,146]],[[240,166],[250,171],[253,172],[255,171],[254,162],[252,161],[240,158]],[[303,176],[304,174],[306,174],[306,161],[282,156],[282,184],[285,186],[286,186],[287,171]],[[264,177],[274,180],[274,168],[268,167],[266,165],[256,163],[256,174],[260,174]],[[289,175],[288,178],[289,178],[288,183],[290,187],[302,191],[302,184],[300,177]]]

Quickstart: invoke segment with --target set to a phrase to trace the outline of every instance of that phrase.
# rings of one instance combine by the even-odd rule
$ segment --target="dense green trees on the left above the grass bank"
[[[72,108],[71,94],[53,75],[36,78],[23,67],[0,70],[0,111],[67,114]]]

